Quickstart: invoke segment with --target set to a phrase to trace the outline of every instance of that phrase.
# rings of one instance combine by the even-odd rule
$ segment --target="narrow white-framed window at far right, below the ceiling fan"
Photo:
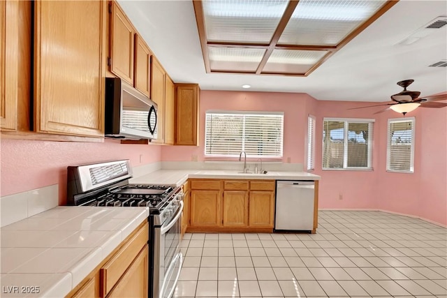
[[[387,171],[414,171],[414,124],[414,117],[388,119]]]

